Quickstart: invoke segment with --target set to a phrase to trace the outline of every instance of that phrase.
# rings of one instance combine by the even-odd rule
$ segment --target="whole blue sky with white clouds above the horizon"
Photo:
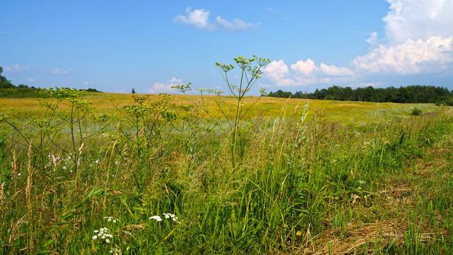
[[[2,0],[0,9],[0,66],[13,84],[227,91],[214,63],[258,55],[272,62],[252,93],[453,89],[453,0]]]

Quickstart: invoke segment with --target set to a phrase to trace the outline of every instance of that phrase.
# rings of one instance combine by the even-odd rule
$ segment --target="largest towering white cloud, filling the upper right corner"
[[[387,0],[384,45],[355,57],[360,72],[445,72],[453,64],[453,0]],[[376,42],[370,35],[367,42]]]

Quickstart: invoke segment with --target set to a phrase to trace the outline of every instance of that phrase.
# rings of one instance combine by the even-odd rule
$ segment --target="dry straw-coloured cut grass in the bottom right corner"
[[[442,149],[446,153],[447,148]],[[419,159],[415,166],[406,169],[404,175],[410,175],[408,179],[395,177],[382,183],[383,189],[374,194],[366,196],[351,197],[351,208],[358,212],[358,215],[369,215],[374,218],[372,222],[352,220],[346,224],[344,229],[329,227],[316,237],[310,237],[306,232],[302,245],[299,246],[300,254],[361,254],[365,250],[370,253],[374,249],[385,251],[389,246],[402,246],[409,231],[408,222],[410,210],[416,208],[418,200],[423,196],[430,196],[420,184],[423,180],[445,179],[445,176],[438,176],[439,170],[447,166],[445,159],[439,158],[440,149],[432,148],[424,159]],[[437,160],[427,158],[437,157]],[[436,176],[437,175],[437,176]],[[445,175],[445,174],[444,174]],[[384,211],[383,215],[376,215],[373,206],[367,207],[370,196],[372,204],[379,205],[379,210]],[[435,213],[435,212],[433,212]],[[432,215],[437,222],[443,222],[440,215]],[[331,224],[332,220],[329,220]],[[429,243],[435,239],[449,237],[446,229],[435,229],[426,220],[417,223],[416,237],[419,242]]]

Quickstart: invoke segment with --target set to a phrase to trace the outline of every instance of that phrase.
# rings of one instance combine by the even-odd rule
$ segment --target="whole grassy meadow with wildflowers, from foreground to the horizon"
[[[453,252],[451,108],[257,99],[0,99],[1,252]]]

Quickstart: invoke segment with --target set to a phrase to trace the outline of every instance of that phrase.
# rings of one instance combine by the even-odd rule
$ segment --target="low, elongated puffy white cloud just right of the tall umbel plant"
[[[336,67],[321,63],[316,65],[314,60],[298,60],[288,68],[283,60],[270,62],[264,69],[265,77],[277,86],[304,86],[311,84],[328,84],[332,82],[347,82],[355,79],[355,73],[346,67]]]

